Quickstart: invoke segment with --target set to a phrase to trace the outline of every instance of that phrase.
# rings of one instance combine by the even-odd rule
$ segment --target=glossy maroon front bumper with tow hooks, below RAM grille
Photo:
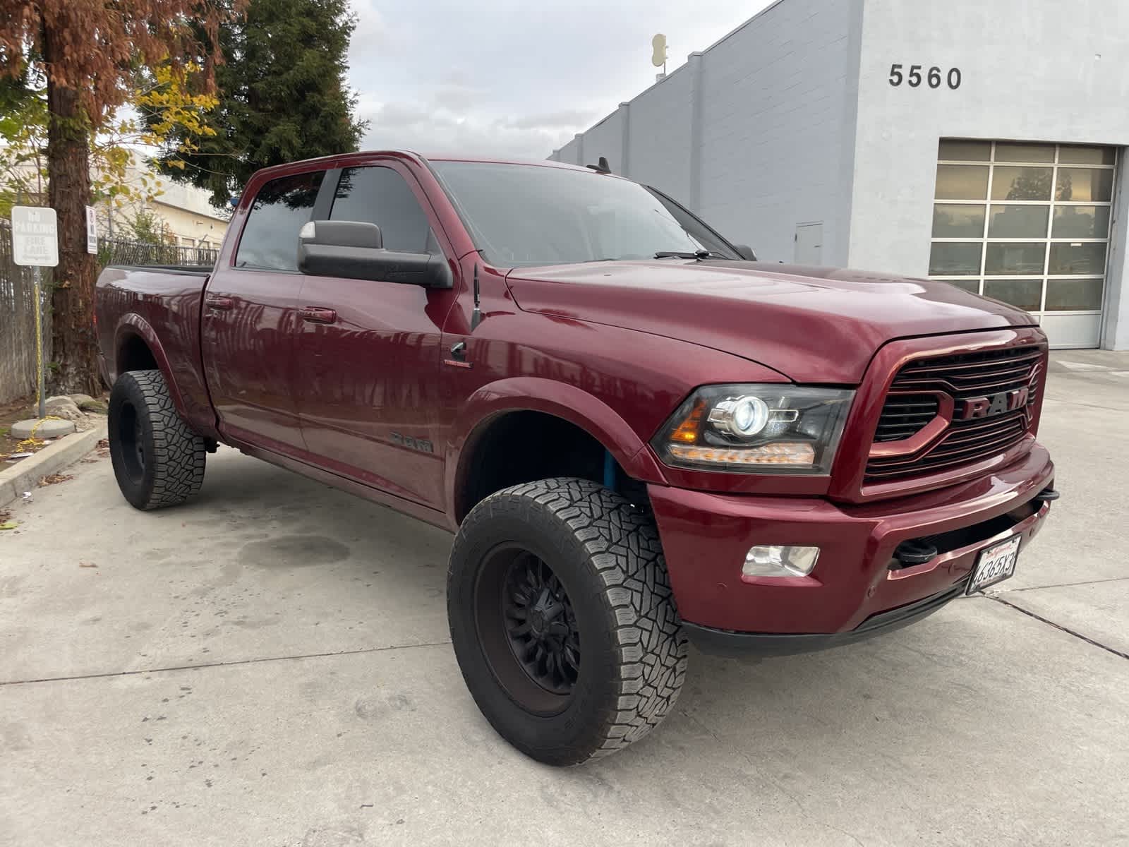
[[[1053,482],[1045,448],[946,489],[865,505],[650,486],[671,585],[691,638],[709,652],[782,654],[851,643],[911,623],[959,596],[977,555],[1042,527]],[[900,543],[937,556],[904,567]],[[817,545],[804,577],[746,577],[754,544]],[[1022,567],[1022,560],[1021,560]]]

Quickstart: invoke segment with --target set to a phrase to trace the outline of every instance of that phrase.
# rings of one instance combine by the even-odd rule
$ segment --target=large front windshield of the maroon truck
[[[628,180],[541,165],[431,164],[474,245],[496,267],[702,251],[717,259],[739,257],[685,209]]]

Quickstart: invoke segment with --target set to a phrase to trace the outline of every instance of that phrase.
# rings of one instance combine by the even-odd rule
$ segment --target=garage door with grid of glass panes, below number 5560
[[[943,140],[929,276],[1039,317],[1052,347],[1097,347],[1112,147]]]

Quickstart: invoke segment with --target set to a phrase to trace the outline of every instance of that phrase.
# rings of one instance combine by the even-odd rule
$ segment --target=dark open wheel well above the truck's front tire
[[[472,455],[455,498],[460,522],[480,500],[520,482],[552,477],[604,481],[604,446],[575,424],[545,412],[500,414],[467,444]],[[632,482],[619,465],[614,471],[620,484]]]

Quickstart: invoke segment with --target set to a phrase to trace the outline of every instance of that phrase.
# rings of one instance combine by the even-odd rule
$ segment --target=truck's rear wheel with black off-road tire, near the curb
[[[181,419],[159,370],[128,370],[110,393],[110,457],[134,508],[184,503],[204,481],[204,439]]]

